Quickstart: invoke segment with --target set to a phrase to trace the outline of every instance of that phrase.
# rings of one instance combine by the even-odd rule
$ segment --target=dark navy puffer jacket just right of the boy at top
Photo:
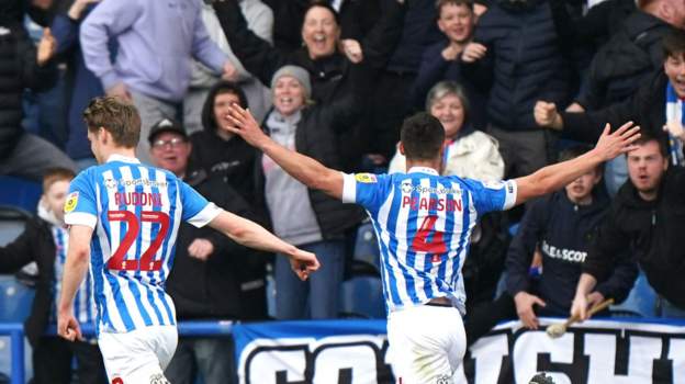
[[[501,0],[478,22],[473,41],[487,47],[485,57],[464,64],[469,77],[492,82],[487,116],[505,131],[535,129],[536,101],[565,105],[571,95],[571,65],[561,19],[553,1]]]

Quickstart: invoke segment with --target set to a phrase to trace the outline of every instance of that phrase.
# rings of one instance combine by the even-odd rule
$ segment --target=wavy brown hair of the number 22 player
[[[113,97],[94,98],[83,111],[83,120],[88,131],[104,128],[117,146],[135,148],[138,145],[141,115],[131,103]]]

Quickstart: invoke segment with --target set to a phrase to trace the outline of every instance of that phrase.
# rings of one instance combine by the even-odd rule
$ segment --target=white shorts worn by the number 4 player
[[[397,384],[451,384],[467,351],[459,310],[419,305],[388,318],[390,362]]]

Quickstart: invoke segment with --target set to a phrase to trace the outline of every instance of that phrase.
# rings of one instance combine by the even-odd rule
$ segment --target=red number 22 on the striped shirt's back
[[[124,239],[112,257],[108,261],[108,269],[114,271],[159,271],[161,269],[161,260],[155,260],[155,255],[161,242],[169,231],[169,215],[164,212],[143,211],[141,212],[141,222],[158,223],[160,225],[157,237],[149,247],[141,256],[141,260],[126,260],[126,253],[133,241],[138,238],[141,233],[141,223],[133,212],[130,211],[110,211],[108,212],[110,222],[125,222],[128,225]]]

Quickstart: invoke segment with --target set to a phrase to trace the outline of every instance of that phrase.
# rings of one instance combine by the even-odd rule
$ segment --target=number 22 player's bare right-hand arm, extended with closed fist
[[[310,273],[319,267],[316,255],[292,246],[259,224],[229,212],[222,211],[218,216],[210,222],[210,226],[246,247],[288,256],[293,272],[301,280],[306,280]]]

